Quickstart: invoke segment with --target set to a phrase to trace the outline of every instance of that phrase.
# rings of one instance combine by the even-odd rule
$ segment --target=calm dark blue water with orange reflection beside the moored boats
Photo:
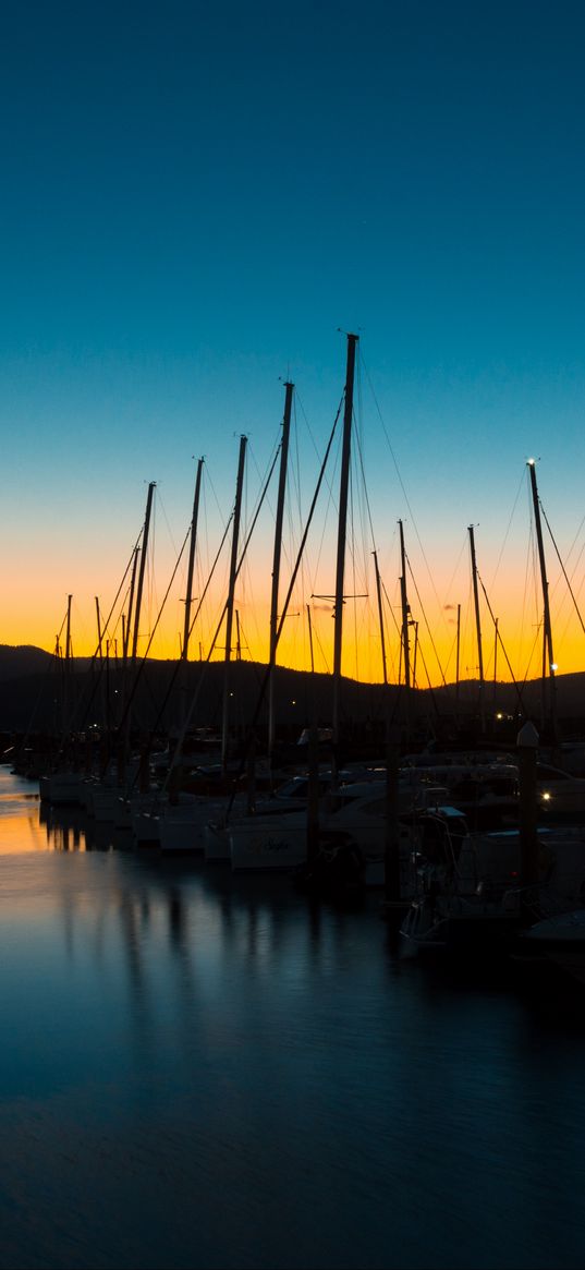
[[[33,792],[0,767],[1,1267],[582,1270],[585,996]]]

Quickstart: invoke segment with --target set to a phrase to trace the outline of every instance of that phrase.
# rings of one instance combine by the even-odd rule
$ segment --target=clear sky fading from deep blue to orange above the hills
[[[190,654],[209,655],[240,437],[245,537],[288,378],[284,596],[352,331],[344,673],[383,674],[376,551],[401,674],[398,522],[417,682],[477,674],[470,526],[485,673],[541,673],[530,457],[556,663],[582,669],[582,5],[6,0],[0,20],[0,643],[53,649],[71,596],[74,654],[96,598],[118,653],[155,481],[140,650],[176,657],[204,457]],[[339,433],[278,654],[321,671]],[[236,585],[260,659],[277,476]]]

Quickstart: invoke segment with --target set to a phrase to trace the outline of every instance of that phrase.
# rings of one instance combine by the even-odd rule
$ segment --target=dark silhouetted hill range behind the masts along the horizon
[[[189,725],[221,728],[223,700],[223,664],[190,662],[185,668],[184,686],[175,662],[146,662],[140,671],[133,695],[132,720],[141,732],[156,728],[176,730],[185,712]],[[232,662],[230,668],[230,723],[236,735],[245,735],[256,709],[265,667],[251,662]],[[311,674],[278,667],[275,671],[277,721],[287,740],[298,738],[315,719],[321,725],[331,723],[331,676]],[[80,730],[89,724],[103,725],[119,718],[123,696],[122,672],[89,658],[75,659],[69,676],[65,663],[33,646],[0,645],[0,729],[3,732],[62,730],[63,706],[70,726]],[[562,738],[585,735],[585,674],[558,676],[556,679],[557,719]],[[522,691],[510,683],[485,685],[483,720],[480,719],[480,691],[476,681],[440,688],[416,690],[406,715],[405,691],[396,686],[363,685],[344,679],[341,691],[341,729],[349,735],[369,738],[382,745],[386,719],[404,728],[421,742],[437,739],[477,740],[485,734],[509,745],[515,742],[519,721],[533,719],[544,739],[542,725],[542,686],[532,681]],[[500,715],[501,718],[497,718]],[[264,698],[259,714],[259,734],[268,719]]]

